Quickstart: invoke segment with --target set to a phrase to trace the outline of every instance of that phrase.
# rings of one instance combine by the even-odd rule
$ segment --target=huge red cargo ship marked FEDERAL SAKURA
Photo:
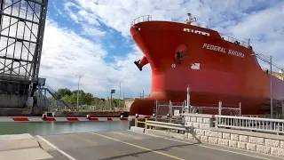
[[[248,43],[223,36],[216,30],[193,25],[188,13],[185,22],[133,20],[130,35],[143,52],[135,65],[152,70],[151,94],[135,100],[130,115],[152,115],[155,100],[182,102],[189,85],[190,105],[238,107],[242,115],[270,113],[270,72],[261,68],[256,52]],[[284,98],[283,76],[272,76],[272,100]]]

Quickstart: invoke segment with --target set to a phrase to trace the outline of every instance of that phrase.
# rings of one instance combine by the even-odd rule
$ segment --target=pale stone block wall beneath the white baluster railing
[[[194,127],[187,139],[284,157],[284,136],[215,128],[213,121],[212,115],[186,114],[185,125]]]

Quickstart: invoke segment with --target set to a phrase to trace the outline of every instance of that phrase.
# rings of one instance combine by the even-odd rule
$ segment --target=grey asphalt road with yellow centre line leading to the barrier
[[[281,159],[244,150],[170,140],[138,132],[84,132],[37,136],[49,160],[256,160]]]

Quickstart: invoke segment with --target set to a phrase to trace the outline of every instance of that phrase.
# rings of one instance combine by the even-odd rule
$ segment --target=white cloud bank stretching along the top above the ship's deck
[[[192,12],[202,27],[217,29],[243,41],[250,38],[257,51],[280,54],[284,40],[284,2],[279,0],[248,0],[240,2],[212,0],[75,0],[80,12],[92,13],[107,26],[129,36],[130,22],[138,16],[151,14],[154,20],[185,20]],[[95,4],[94,2],[98,3]],[[90,15],[90,14],[89,14]],[[264,39],[260,39],[263,38]],[[272,46],[272,47],[267,47]],[[277,52],[278,51],[278,52]]]

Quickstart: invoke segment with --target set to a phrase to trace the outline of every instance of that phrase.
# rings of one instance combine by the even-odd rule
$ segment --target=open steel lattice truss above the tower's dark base
[[[0,0],[2,81],[37,83],[47,4],[48,0]]]

